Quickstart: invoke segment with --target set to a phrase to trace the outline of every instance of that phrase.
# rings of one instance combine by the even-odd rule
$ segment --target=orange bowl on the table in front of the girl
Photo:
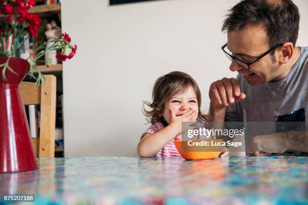
[[[195,141],[195,140],[193,140]],[[200,140],[196,140],[200,141]],[[221,141],[222,140],[213,140],[213,141]],[[204,151],[184,151],[182,147],[182,140],[173,141],[180,155],[187,160],[203,160],[203,159],[214,159],[219,156],[220,151],[207,151],[206,148]],[[200,149],[199,149],[200,150]],[[211,150],[221,150],[221,146],[215,146],[215,148]]]

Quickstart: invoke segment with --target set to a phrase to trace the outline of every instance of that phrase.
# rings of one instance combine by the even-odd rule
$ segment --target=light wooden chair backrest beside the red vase
[[[32,137],[36,157],[54,157],[56,77],[44,75],[44,83],[22,82],[19,90],[24,105],[41,105],[39,138]]]

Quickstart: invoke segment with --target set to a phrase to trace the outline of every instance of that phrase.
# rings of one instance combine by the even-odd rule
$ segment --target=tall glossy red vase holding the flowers
[[[0,58],[0,64],[8,57]],[[38,169],[19,84],[29,72],[28,61],[10,58],[9,66],[17,73],[6,70],[7,80],[0,67],[0,173]]]

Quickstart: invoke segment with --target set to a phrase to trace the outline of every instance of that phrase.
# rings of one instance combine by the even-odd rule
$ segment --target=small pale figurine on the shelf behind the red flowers
[[[61,36],[61,28],[57,26],[55,21],[51,21],[50,24],[46,24],[46,32],[47,45],[46,49],[48,49],[51,45],[54,44],[54,39],[58,39]],[[45,54],[45,64],[46,65],[55,65],[57,64],[56,58],[57,51],[52,50]]]

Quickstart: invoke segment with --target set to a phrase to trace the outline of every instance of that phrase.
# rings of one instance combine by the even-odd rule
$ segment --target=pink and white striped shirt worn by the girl
[[[157,122],[151,125],[142,135],[140,140],[144,137],[145,134],[154,134],[157,133],[165,128],[164,124],[161,122]],[[180,140],[179,138],[175,137],[172,141],[168,142],[168,144],[163,147],[158,153],[154,155],[154,157],[180,157],[180,153],[178,152],[177,148],[175,147],[173,141]]]

